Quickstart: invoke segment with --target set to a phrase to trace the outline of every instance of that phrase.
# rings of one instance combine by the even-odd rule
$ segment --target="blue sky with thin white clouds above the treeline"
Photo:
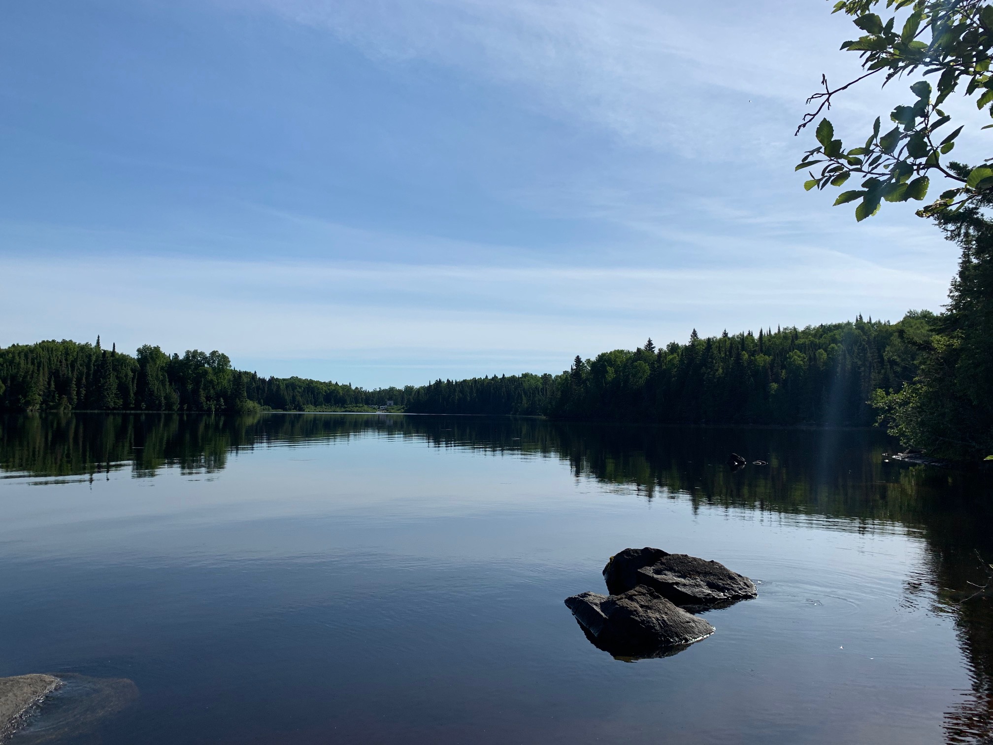
[[[956,268],[913,206],[856,224],[793,173],[806,96],[858,70],[825,0],[4,15],[0,346],[100,335],[365,387],[559,373],[692,329],[937,311]],[[830,117],[862,140],[908,96]]]

